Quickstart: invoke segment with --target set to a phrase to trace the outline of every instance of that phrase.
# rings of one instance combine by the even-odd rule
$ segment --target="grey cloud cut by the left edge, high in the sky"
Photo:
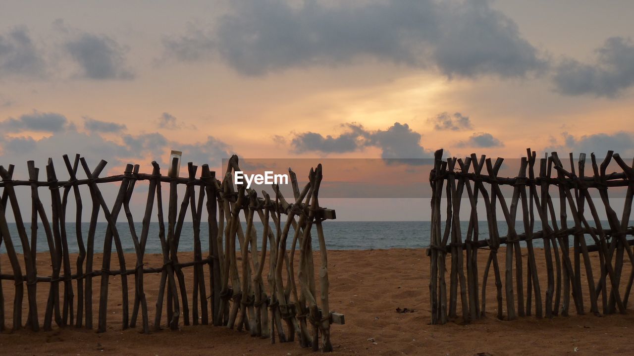
[[[37,77],[44,72],[44,59],[26,27],[15,27],[7,34],[0,35],[0,77]]]

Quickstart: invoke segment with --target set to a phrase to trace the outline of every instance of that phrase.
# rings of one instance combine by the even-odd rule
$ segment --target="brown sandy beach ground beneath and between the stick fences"
[[[486,262],[484,254],[479,258]],[[538,249],[538,253],[541,250]],[[315,255],[318,264],[319,254]],[[593,257],[597,259],[596,257]],[[114,259],[116,262],[116,258]],[[134,261],[126,258],[128,264]],[[181,258],[183,261],[184,258]],[[503,260],[503,258],[501,258]],[[146,265],[161,265],[159,255],[147,255]],[[429,258],[425,250],[328,251],[331,309],[346,315],[345,325],[332,326],[333,355],[597,355],[631,354],[634,314],[573,315],[553,319],[524,317],[517,321],[495,318],[495,286],[489,277],[487,317],[463,325],[452,321],[429,325]],[[448,260],[448,266],[449,264]],[[39,255],[39,275],[45,275],[48,257]],[[503,267],[503,261],[501,261]],[[546,276],[539,258],[542,289]],[[11,273],[6,255],[0,256],[2,273]],[[113,266],[115,266],[113,264]],[[96,257],[95,266],[101,266]],[[626,271],[630,266],[626,265]],[[480,272],[482,273],[483,267]],[[598,270],[598,269],[597,269]],[[191,269],[186,270],[191,284]],[[491,275],[492,276],[492,275]],[[99,277],[94,284],[96,325]],[[129,280],[133,286],[133,279]],[[585,281],[585,280],[584,280]],[[5,325],[11,326],[13,283],[3,281]],[[48,284],[39,283],[39,317],[43,320]],[[146,274],[145,291],[153,321],[159,284],[158,274]],[[587,289],[587,288],[585,288]],[[132,289],[131,289],[132,290]],[[110,282],[108,331],[54,327],[53,331],[22,329],[0,334],[1,355],[309,355],[298,343],[275,343],[252,338],[248,333],[214,326],[183,326],[149,335],[136,329],[122,330],[119,277]],[[130,298],[133,298],[131,292]],[[190,293],[191,306],[191,293]],[[25,298],[26,301],[26,298]],[[589,308],[585,298],[586,310]],[[460,305],[460,301],[458,301]],[[416,311],[408,314],[396,308]],[[26,304],[23,319],[26,319]],[[458,313],[460,314],[460,312]],[[165,314],[164,314],[165,315]],[[182,322],[182,319],[181,319]],[[164,317],[165,324],[165,317]]]

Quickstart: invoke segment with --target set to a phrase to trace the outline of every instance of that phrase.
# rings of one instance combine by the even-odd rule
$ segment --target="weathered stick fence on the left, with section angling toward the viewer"
[[[58,181],[53,160],[49,158],[46,165],[46,181],[38,181],[38,168],[33,161],[28,162],[29,180],[13,181],[13,165],[8,169],[0,166],[3,188],[0,204],[0,245],[4,242],[6,255],[0,258],[10,260],[12,274],[1,274],[3,280],[13,281],[15,293],[13,301],[13,330],[23,326],[23,295],[27,289],[27,310],[25,325],[37,331],[41,326],[45,330],[52,327],[53,321],[58,326],[93,328],[93,302],[98,300],[97,331],[104,332],[108,321],[108,284],[111,276],[120,277],[122,292],[122,328],[136,326],[139,318],[143,333],[159,330],[164,310],[164,295],[167,295],[165,308],[167,326],[178,329],[181,324],[214,324],[238,330],[246,329],[252,336],[270,338],[275,336],[281,342],[293,341],[295,334],[302,347],[312,347],[327,352],[332,350],[330,342],[330,324],[342,323],[343,315],[330,312],[328,305],[328,269],[327,250],[322,222],[335,219],[334,210],[321,208],[318,201],[321,165],[309,173],[309,183],[299,189],[294,172],[290,171],[294,198],[288,202],[281,194],[278,186],[273,186],[275,198],[266,192],[258,197],[252,189],[239,184],[235,191],[233,174],[238,167],[238,157],[228,161],[226,174],[221,181],[216,179],[215,172],[208,165],[202,166],[202,173],[197,179],[197,167],[188,163],[188,177],[176,177],[175,174],[161,175],[160,167],[152,162],[152,174],[141,174],[138,165],[127,165],[124,174],[111,177],[99,177],[107,162],[101,162],[90,170],[86,160],[75,156],[71,164],[68,156],[63,156],[70,179]],[[86,179],[78,179],[81,165]],[[171,162],[170,172],[178,172],[179,160]],[[149,181],[145,213],[141,231],[136,231],[131,213],[130,201],[136,182]],[[100,191],[100,184],[120,182],[119,193],[112,207],[108,207],[105,197]],[[167,227],[165,226],[162,184],[169,184],[169,205],[167,207]],[[185,193],[180,209],[178,209],[178,186],[184,185]],[[31,191],[31,239],[18,206],[16,186],[30,186]],[[87,186],[91,196],[91,219],[84,245],[82,231],[82,198],[79,186]],[[38,188],[48,188],[51,194],[52,212],[47,215],[39,197]],[[76,256],[75,268],[68,253],[67,240],[67,204],[70,193],[75,199],[75,235],[79,253]],[[206,198],[206,200],[205,200]],[[11,205],[15,217],[16,229],[22,245],[22,274],[20,254],[16,252],[11,239],[6,219],[8,205]],[[156,206],[156,210],[154,210]],[[100,210],[107,220],[107,231],[103,245],[101,267],[95,267],[94,241]],[[120,233],[117,231],[117,218],[123,210],[134,244],[134,262],[126,261],[122,249]],[[150,236],[150,219],[153,211],[157,212],[159,225],[158,236]],[[190,213],[193,222],[193,236],[181,236],[183,222]],[[200,226],[204,224],[206,212],[209,228],[209,255],[203,257],[201,248]],[[254,219],[263,224],[262,236],[257,236]],[[286,216],[285,222],[282,215]],[[38,220],[39,218],[39,220]],[[246,222],[243,231],[241,219]],[[50,276],[37,274],[37,226],[41,224],[46,232],[48,253],[51,258],[52,273]],[[271,226],[273,224],[273,226]],[[315,266],[311,241],[312,227],[316,228],[316,237],[320,246],[321,263],[317,267],[319,289],[316,288]],[[292,248],[287,251],[287,240],[292,234]],[[184,238],[193,239],[193,260],[179,260],[179,241]],[[258,246],[258,239],[261,245]],[[162,266],[146,267],[144,256],[148,239],[159,239],[162,249]],[[236,239],[239,248],[236,248]],[[115,245],[119,269],[111,270],[112,244]],[[240,251],[240,257],[236,252]],[[295,257],[295,253],[299,255]],[[181,252],[180,256],[183,255]],[[266,258],[268,256],[268,258]],[[133,268],[127,266],[133,264]],[[268,265],[267,283],[262,276],[265,265]],[[205,266],[209,269],[205,277]],[[191,268],[189,268],[191,267]],[[185,273],[193,274],[193,286],[185,284]],[[159,293],[156,300],[156,311],[153,326],[148,319],[148,300],[144,293],[143,276],[160,274]],[[134,275],[132,302],[129,300],[128,276]],[[100,281],[93,281],[100,277]],[[43,324],[37,307],[37,286],[49,284],[48,302],[44,310]],[[93,298],[93,283],[100,284],[99,295]],[[95,286],[96,288],[96,286]],[[61,291],[60,291],[61,289]],[[188,289],[193,291],[188,298]],[[317,291],[320,291],[318,296]],[[76,297],[75,297],[76,292]],[[60,296],[61,294],[61,296]],[[130,314],[130,307],[132,313]],[[139,312],[140,310],[140,312]],[[0,283],[0,331],[5,328],[4,296]]]

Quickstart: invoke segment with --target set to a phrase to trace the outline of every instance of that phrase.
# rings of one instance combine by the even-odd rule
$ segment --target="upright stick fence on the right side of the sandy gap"
[[[634,240],[627,239],[634,234],[634,227],[629,226],[634,165],[628,165],[612,151],[607,153],[601,163],[597,163],[592,154],[592,174],[586,175],[585,154],[581,154],[575,162],[571,153],[569,164],[564,165],[557,153],[536,160],[536,153],[527,149],[527,156],[521,158],[517,177],[506,178],[498,177],[502,158],[492,162],[491,158],[478,158],[472,154],[465,160],[449,158],[443,161],[442,155],[442,150],[436,152],[434,168],[429,177],[432,187],[432,229],[428,250],[431,258],[429,289],[432,324],[444,324],[448,319],[458,318],[458,291],[462,321],[484,317],[491,265],[499,319],[511,320],[517,316],[531,315],[533,303],[537,317],[568,315],[571,297],[577,314],[585,314],[588,299],[593,314],[625,312],[634,278],[631,248]],[[607,174],[611,162],[616,162],[622,171]],[[535,168],[536,163],[538,167]],[[486,170],[483,170],[485,167]],[[501,193],[503,186],[512,189],[510,205],[507,205]],[[559,198],[559,212],[553,205],[551,187],[555,188],[555,197]],[[624,198],[619,219],[608,189],[625,191],[625,187],[626,193],[618,194],[619,198]],[[444,218],[441,216],[443,188],[446,201]],[[467,199],[464,201],[470,208],[466,231],[461,229],[460,224],[460,205],[465,198],[465,191]],[[593,196],[596,200],[597,193],[600,202],[595,204]],[[481,239],[478,231],[477,203],[484,203],[486,210],[489,233],[484,239]],[[518,210],[522,212],[522,233],[517,233],[515,227],[519,220]],[[508,229],[506,236],[500,236],[498,229],[496,214],[500,211],[503,215],[501,224],[505,224]],[[601,219],[602,212],[607,217],[607,226],[605,220]],[[540,231],[534,231],[536,219],[541,222]],[[571,222],[569,219],[572,219]],[[593,243],[586,243],[586,237],[591,238]],[[573,245],[570,245],[570,238]],[[533,241],[537,239],[543,241],[543,254],[536,254]],[[526,250],[521,248],[520,241],[524,241]],[[501,245],[506,246],[500,251],[504,255],[503,277],[498,263]],[[479,251],[485,248],[486,266],[479,276],[477,258]],[[596,270],[597,255],[599,270]],[[445,281],[448,256],[451,260],[449,294]],[[538,262],[542,266],[545,264],[546,281],[540,274]],[[628,265],[629,277],[622,279],[627,272],[624,267]]]

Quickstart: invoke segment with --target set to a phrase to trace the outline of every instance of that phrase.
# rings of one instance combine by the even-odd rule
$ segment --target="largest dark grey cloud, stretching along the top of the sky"
[[[517,25],[488,1],[432,0],[297,6],[281,0],[232,3],[210,30],[190,25],[164,40],[183,61],[221,58],[243,75],[378,60],[445,75],[523,77],[545,66]]]

